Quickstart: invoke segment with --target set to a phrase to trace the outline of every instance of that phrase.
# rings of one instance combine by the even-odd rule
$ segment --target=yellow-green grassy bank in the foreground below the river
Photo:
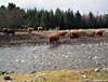
[[[4,80],[4,77],[12,80]],[[108,82],[108,68],[1,74],[0,82]]]

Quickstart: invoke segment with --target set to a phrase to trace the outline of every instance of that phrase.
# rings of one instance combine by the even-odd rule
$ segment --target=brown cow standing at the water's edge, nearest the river
[[[49,35],[48,36],[48,42],[51,44],[51,43],[57,43],[57,42],[59,42],[59,35],[57,35],[57,33],[53,33],[53,35]]]

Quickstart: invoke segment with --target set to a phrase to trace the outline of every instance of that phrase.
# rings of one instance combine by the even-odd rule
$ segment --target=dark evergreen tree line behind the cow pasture
[[[45,30],[55,29],[87,29],[87,28],[107,28],[108,14],[94,15],[92,12],[83,14],[71,9],[62,11],[29,9],[27,11],[9,3],[8,6],[0,6],[0,29],[14,28],[22,29],[27,27],[43,27]]]

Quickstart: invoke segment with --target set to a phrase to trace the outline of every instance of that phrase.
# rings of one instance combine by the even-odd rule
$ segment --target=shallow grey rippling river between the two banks
[[[0,47],[0,71],[31,72],[108,67],[108,44]]]

